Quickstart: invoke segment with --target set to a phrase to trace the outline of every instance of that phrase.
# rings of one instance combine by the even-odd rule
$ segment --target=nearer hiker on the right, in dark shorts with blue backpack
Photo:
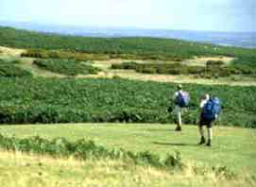
[[[208,142],[206,145],[211,146],[213,140],[213,121],[217,119],[221,110],[220,100],[217,97],[210,97],[209,94],[205,94],[201,99],[200,109],[201,113],[198,127],[201,140],[199,144],[206,144],[203,130],[203,126],[206,126],[208,132]]]

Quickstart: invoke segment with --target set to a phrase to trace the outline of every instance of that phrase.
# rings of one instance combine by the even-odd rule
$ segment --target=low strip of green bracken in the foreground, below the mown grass
[[[183,168],[180,155],[169,155],[162,160],[159,155],[152,154],[148,151],[133,153],[121,148],[107,149],[102,145],[96,145],[93,141],[77,140],[74,143],[67,141],[65,138],[55,138],[53,140],[43,139],[39,136],[17,139],[15,137],[8,138],[0,134],[0,147],[12,150],[37,154],[47,154],[53,156],[70,157],[74,156],[81,160],[98,160],[112,159],[133,162],[133,164],[153,166],[162,169]]]

